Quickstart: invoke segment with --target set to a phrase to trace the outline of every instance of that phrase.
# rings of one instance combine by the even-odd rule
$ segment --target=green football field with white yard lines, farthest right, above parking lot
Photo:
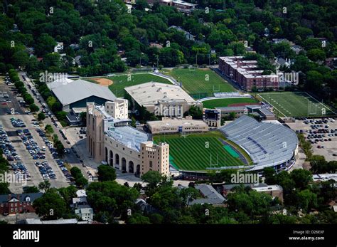
[[[259,96],[274,107],[274,112],[279,117],[318,117],[334,114],[330,107],[305,92],[260,93]]]

